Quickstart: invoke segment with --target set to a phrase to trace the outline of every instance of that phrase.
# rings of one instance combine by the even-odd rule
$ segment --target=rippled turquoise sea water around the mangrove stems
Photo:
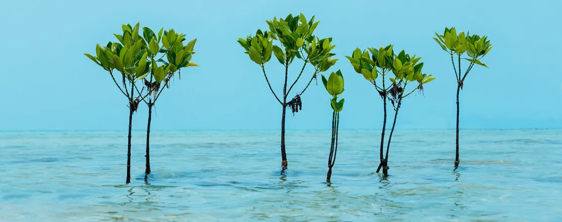
[[[0,133],[0,221],[560,221],[561,130],[397,131],[389,178],[380,132],[341,130],[331,186],[329,131]]]

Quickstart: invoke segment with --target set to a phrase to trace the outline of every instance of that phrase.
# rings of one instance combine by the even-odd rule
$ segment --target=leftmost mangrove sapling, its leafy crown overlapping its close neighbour
[[[96,46],[96,56],[84,53],[85,56],[96,62],[104,70],[108,71],[117,88],[129,101],[129,135],[127,147],[127,177],[126,183],[131,180],[131,128],[133,113],[137,111],[138,103],[147,95],[142,96],[144,87],[135,96],[135,87],[138,80],[146,78],[151,70],[151,64],[147,62],[148,51],[146,42],[138,34],[139,24],[134,27],[123,25],[123,35],[116,35],[122,43],[109,42],[107,46]],[[117,83],[114,71],[121,73],[121,84]],[[129,89],[130,88],[130,89]],[[129,92],[130,90],[130,92]],[[138,89],[137,89],[138,90]]]

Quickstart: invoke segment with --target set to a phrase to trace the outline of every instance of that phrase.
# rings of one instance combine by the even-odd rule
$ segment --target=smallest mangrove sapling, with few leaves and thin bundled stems
[[[339,112],[343,109],[343,102],[345,99],[337,101],[339,96],[343,93],[343,76],[341,71],[330,74],[328,80],[322,75],[322,83],[324,87],[332,95],[330,105],[332,106],[332,141],[330,143],[330,155],[328,157],[328,174],[326,175],[326,182],[330,183],[332,178],[332,167],[336,163],[336,153],[338,152],[338,128],[339,128]]]

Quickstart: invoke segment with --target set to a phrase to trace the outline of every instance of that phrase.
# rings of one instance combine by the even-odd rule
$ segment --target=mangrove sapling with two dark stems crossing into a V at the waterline
[[[375,89],[379,93],[379,96],[383,101],[383,129],[380,138],[380,164],[377,167],[377,173],[380,169],[383,169],[383,175],[388,176],[388,151],[390,148],[390,143],[392,139],[392,134],[396,126],[396,119],[398,116],[398,110],[402,105],[402,99],[410,96],[416,89],[420,92],[423,90],[423,84],[429,83],[429,81],[434,80],[432,75],[422,74],[423,62],[418,64],[421,57],[411,56],[406,54],[402,50],[398,55],[393,52],[393,46],[389,45],[387,47],[380,47],[379,49],[368,48],[361,52],[361,49],[357,48],[353,51],[353,55],[346,56],[350,60],[353,69],[362,74],[363,77],[374,85]],[[370,54],[369,54],[370,53]],[[388,78],[389,83],[387,87],[386,76],[392,71],[394,78]],[[378,78],[378,76],[381,78]],[[377,81],[377,79],[380,79]],[[410,92],[404,95],[406,85],[411,82],[417,81],[418,84]],[[380,87],[382,83],[382,87]],[[388,136],[386,155],[384,154],[384,133],[386,131],[386,121],[387,121],[387,99],[391,102],[394,108],[395,115],[392,123],[391,132]]]

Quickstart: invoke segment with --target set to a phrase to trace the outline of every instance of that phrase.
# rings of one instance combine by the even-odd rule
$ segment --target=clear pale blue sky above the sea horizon
[[[267,29],[273,16],[300,12],[316,15],[315,34],[337,45],[340,60],[329,71],[341,69],[346,80],[341,129],[380,129],[380,97],[344,56],[387,44],[422,56],[425,72],[437,78],[425,97],[404,101],[397,128],[454,128],[455,76],[432,39],[445,26],[486,34],[494,46],[483,59],[490,69],[474,67],[465,80],[461,128],[560,128],[560,8],[560,1],[543,0],[2,1],[0,130],[126,130],[126,98],[82,53],[94,53],[96,43],[115,40],[121,24],[136,22],[198,39],[192,61],[200,67],[183,71],[158,99],[153,129],[279,129],[281,107],[236,40]],[[278,93],[282,69],[274,59],[266,64]],[[299,70],[295,63],[289,79]],[[302,99],[303,110],[289,112],[287,128],[328,129],[332,111],[321,83]],[[133,128],[144,129],[146,116],[141,106]]]

